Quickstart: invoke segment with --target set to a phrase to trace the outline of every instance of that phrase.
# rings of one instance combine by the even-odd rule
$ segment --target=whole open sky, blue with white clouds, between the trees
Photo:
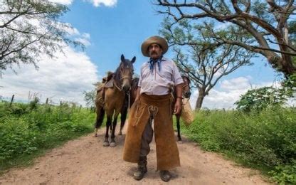
[[[156,13],[156,6],[149,0],[51,0],[66,4],[70,11],[61,21],[70,23],[73,39],[85,43],[85,51],[65,47],[65,55],[56,53],[53,60],[44,56],[39,70],[31,65],[16,66],[6,70],[0,80],[0,96],[28,100],[28,92],[38,93],[41,101],[51,97],[53,102],[68,100],[84,104],[83,90],[115,70],[120,56],[137,57],[135,73],[147,58],[142,56],[140,46],[144,39],[159,33],[163,16]],[[173,53],[166,53],[172,58]],[[276,74],[265,58],[254,58],[253,66],[243,67],[222,78],[204,100],[203,107],[231,108],[239,95],[255,87],[273,85]],[[32,80],[33,79],[33,80]],[[195,105],[197,92],[191,98]]]

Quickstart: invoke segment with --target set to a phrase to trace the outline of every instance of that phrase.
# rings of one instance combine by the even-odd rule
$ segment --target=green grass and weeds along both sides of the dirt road
[[[0,174],[93,132],[95,113],[69,105],[0,102]],[[181,133],[207,151],[260,169],[279,184],[296,184],[296,109],[201,110]]]

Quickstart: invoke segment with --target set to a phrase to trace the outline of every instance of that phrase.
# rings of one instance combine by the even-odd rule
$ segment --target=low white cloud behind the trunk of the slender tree
[[[265,82],[258,84],[250,84],[250,76],[232,78],[230,80],[222,80],[219,83],[220,87],[213,88],[210,90],[208,95],[203,99],[202,107],[207,107],[209,109],[222,109],[226,110],[235,108],[234,102],[240,99],[240,95],[245,94],[248,90],[252,88],[261,88],[265,86],[280,87],[279,83]],[[217,90],[220,88],[220,90]],[[198,97],[198,91],[196,90],[191,95],[191,107],[195,107],[196,100]]]

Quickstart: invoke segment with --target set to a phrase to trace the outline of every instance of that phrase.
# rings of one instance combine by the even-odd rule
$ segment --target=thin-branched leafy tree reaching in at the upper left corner
[[[58,18],[67,6],[43,0],[0,0],[0,70],[13,64],[33,63],[45,53],[53,56],[65,44],[71,26]]]

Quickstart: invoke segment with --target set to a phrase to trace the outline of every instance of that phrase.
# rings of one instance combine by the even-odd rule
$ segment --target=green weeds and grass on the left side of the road
[[[93,131],[93,112],[61,106],[0,102],[0,171],[18,159]]]

